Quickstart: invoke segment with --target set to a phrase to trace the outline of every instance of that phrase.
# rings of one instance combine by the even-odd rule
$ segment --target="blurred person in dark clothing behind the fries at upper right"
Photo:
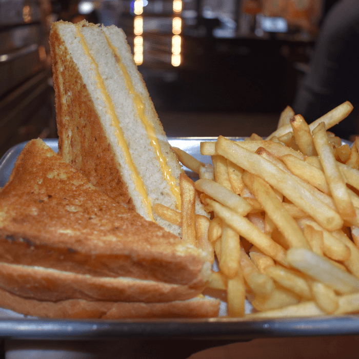
[[[292,108],[311,123],[345,101],[350,101],[354,109],[333,128],[333,132],[349,139],[358,133],[358,0],[340,0],[325,16],[315,44],[310,71],[303,79]]]

